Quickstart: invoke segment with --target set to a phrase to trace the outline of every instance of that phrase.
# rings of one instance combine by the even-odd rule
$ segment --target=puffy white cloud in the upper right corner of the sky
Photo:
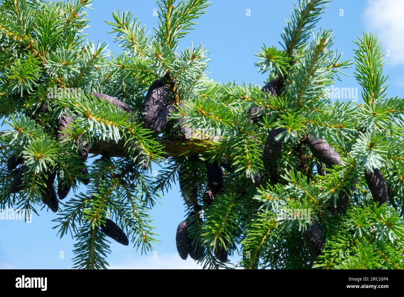
[[[390,50],[387,63],[404,64],[404,1],[368,0],[363,17],[368,29],[378,33],[383,48]]]

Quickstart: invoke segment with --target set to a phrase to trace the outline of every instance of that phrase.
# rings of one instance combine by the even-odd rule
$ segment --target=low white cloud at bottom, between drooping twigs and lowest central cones
[[[152,255],[128,259],[124,263],[111,264],[108,269],[202,269],[201,263],[188,257],[185,261],[178,254],[157,255],[153,259]]]

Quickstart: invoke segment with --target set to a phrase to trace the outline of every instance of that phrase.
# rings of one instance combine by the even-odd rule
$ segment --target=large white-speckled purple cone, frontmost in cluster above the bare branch
[[[160,111],[166,105],[168,99],[168,86],[155,88],[146,98],[143,110],[143,128],[150,128],[157,120]]]

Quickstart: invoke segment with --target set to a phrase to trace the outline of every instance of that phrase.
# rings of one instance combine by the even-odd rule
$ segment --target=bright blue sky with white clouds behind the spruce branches
[[[290,17],[293,8],[291,0],[212,0],[210,12],[198,19],[196,29],[191,31],[180,43],[179,49],[186,48],[190,42],[194,46],[202,43],[210,51],[208,71],[210,78],[218,82],[235,80],[238,84],[262,84],[266,74],[257,72],[253,65],[256,61],[254,53],[265,42],[267,46],[278,45],[284,27],[284,19]],[[120,52],[113,41],[109,25],[103,20],[112,20],[111,11],[133,11],[147,30],[152,30],[158,23],[153,17],[153,9],[158,8],[154,0],[96,0],[94,10],[89,10],[90,28],[86,29],[88,40],[109,43],[111,51]],[[246,10],[250,16],[246,16]],[[343,11],[341,11],[343,9]],[[343,12],[343,16],[340,16]],[[352,40],[365,31],[379,34],[383,47],[389,51],[386,57],[384,74],[389,75],[389,96],[402,97],[404,91],[404,74],[402,67],[404,55],[404,2],[401,0],[335,0],[328,5],[327,12],[322,15],[319,27],[332,29],[335,48],[343,52],[343,59],[353,58]],[[360,87],[353,78],[354,68],[345,72],[350,77],[342,76],[339,87]],[[359,99],[360,101],[360,99]],[[3,128],[4,129],[4,128]],[[159,167],[154,168],[156,170]],[[84,190],[84,187],[82,187]],[[78,193],[76,193],[78,194]],[[71,198],[70,193],[64,201]],[[38,208],[39,211],[39,208]],[[152,253],[141,255],[131,246],[122,246],[112,242],[112,254],[107,261],[110,268],[199,268],[192,259],[181,260],[175,246],[177,225],[184,215],[183,200],[178,185],[173,185],[171,192],[164,196],[161,204],[150,214],[154,217],[157,233],[160,234],[160,245],[155,246],[157,258]],[[52,212],[40,211],[34,216],[32,223],[23,221],[0,221],[0,268],[18,269],[66,269],[72,267],[72,248],[74,240],[65,236],[56,237],[57,232],[51,227],[56,215]],[[61,258],[61,252],[64,257]],[[236,261],[236,258],[232,260]]]

